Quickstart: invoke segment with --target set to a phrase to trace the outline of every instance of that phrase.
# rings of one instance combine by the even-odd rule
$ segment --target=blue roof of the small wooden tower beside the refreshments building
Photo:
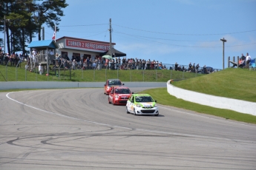
[[[32,41],[27,47],[35,48],[35,49],[59,48],[58,45],[53,40]]]

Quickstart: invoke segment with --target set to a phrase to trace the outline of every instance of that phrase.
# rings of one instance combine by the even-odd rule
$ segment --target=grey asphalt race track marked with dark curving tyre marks
[[[102,88],[0,92],[0,169],[256,169],[255,125],[159,108],[127,114]]]

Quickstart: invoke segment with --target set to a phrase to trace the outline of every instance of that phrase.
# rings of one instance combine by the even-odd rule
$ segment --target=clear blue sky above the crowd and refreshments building
[[[223,69],[228,56],[256,58],[256,0],[67,0],[56,38],[112,42],[127,58]],[[53,30],[45,25],[45,39]],[[34,41],[37,37],[34,38]]]

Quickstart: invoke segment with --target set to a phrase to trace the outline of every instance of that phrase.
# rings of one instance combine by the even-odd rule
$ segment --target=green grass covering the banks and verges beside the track
[[[173,85],[195,92],[256,102],[256,72],[249,69],[225,69],[209,75],[171,70],[62,70],[59,77],[50,71],[49,76],[34,72],[25,72],[24,63],[21,68],[0,65],[0,81],[88,81],[102,82],[108,78],[119,78],[121,81],[155,81],[166,82],[170,79],[186,79],[174,81]],[[19,91],[10,90],[10,91]],[[7,90],[0,91],[7,92]],[[153,96],[157,103],[192,110],[198,113],[219,116],[221,118],[256,123],[256,116],[234,112],[228,109],[217,109],[177,99],[169,95],[166,88],[148,89],[143,91]]]

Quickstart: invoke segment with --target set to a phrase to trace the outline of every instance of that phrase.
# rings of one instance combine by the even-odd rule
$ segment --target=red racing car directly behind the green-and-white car
[[[113,86],[108,95],[108,103],[112,103],[113,105],[126,105],[131,94],[133,94],[133,92],[126,86]]]

